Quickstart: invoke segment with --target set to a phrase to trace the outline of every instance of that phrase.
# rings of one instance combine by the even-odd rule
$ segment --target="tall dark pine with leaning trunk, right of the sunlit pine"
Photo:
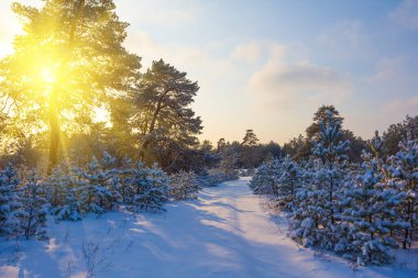
[[[141,157],[148,164],[170,169],[198,145],[201,120],[190,104],[199,86],[186,75],[163,59],[154,60],[133,91],[132,129],[139,131]]]

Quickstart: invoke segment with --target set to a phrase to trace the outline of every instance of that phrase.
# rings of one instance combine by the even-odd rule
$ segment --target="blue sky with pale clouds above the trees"
[[[19,26],[10,2],[0,3],[0,55]],[[114,2],[144,69],[163,58],[199,81],[201,138],[253,129],[284,143],[321,104],[367,138],[418,112],[418,1]]]

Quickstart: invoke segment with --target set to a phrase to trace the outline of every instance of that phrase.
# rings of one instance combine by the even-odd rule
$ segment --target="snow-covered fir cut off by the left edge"
[[[18,171],[12,165],[0,171],[0,235],[16,235],[20,231],[22,203],[20,202]]]

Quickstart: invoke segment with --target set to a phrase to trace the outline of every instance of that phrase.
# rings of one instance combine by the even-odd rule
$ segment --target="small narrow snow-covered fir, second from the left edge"
[[[36,236],[40,240],[46,238],[46,214],[48,202],[45,191],[35,171],[28,175],[28,180],[20,189],[20,202],[22,211],[20,213],[21,233],[30,238]]]

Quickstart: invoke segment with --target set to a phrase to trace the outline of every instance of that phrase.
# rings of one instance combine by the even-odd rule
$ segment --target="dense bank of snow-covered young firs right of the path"
[[[336,110],[316,119],[308,158],[262,164],[252,190],[287,212],[289,235],[304,246],[333,251],[358,265],[393,262],[393,248],[417,241],[417,118],[392,125],[384,136],[376,132],[361,163],[350,160],[351,142]]]

